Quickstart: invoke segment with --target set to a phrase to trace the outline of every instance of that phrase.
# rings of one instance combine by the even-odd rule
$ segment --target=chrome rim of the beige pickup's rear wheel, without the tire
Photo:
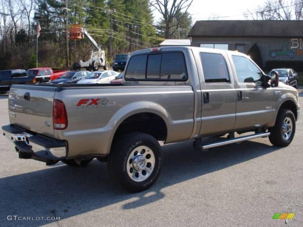
[[[155,154],[148,146],[138,146],[128,156],[128,176],[136,182],[147,179],[155,168]]]

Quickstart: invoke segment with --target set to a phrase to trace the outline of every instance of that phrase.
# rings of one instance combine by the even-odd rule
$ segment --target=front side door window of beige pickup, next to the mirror
[[[242,56],[232,56],[239,83],[257,82],[262,76],[259,68],[248,58]]]

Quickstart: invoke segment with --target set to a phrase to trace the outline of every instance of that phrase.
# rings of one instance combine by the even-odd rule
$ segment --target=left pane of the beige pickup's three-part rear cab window
[[[127,71],[125,73],[126,79],[145,79],[147,55],[133,56],[128,63]]]

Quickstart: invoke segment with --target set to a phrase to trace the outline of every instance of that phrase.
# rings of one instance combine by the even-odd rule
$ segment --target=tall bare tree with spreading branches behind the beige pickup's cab
[[[153,6],[162,16],[164,25],[156,26],[157,29],[164,29],[165,38],[171,37],[173,32],[170,32],[171,28],[177,30],[180,26],[180,21],[175,22],[176,15],[182,13],[184,16],[188,15],[188,8],[193,0],[151,0],[150,4]],[[164,28],[163,28],[164,26]]]

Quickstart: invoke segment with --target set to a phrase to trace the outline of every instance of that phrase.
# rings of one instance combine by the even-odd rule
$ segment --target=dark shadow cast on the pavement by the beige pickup
[[[9,176],[0,179],[1,226],[41,226],[54,220],[14,221],[8,215],[47,217],[60,220],[123,202],[122,209],[134,209],[165,197],[161,189],[229,166],[274,152],[279,147],[245,141],[213,148],[194,150],[193,141],[162,146],[164,165],[162,173],[150,189],[131,194],[117,189],[109,177],[106,163],[94,160],[85,168],[62,165],[61,162],[47,169]],[[26,169],[27,162],[23,160]],[[41,163],[41,165],[44,165]],[[201,182],[203,184],[203,182]],[[55,223],[54,223],[55,224]]]

